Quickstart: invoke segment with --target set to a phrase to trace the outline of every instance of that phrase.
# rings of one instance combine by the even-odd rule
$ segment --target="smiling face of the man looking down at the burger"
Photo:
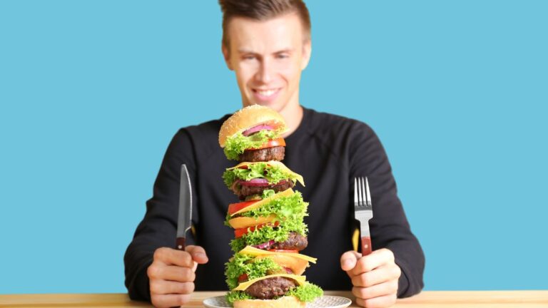
[[[235,17],[228,24],[230,50],[223,46],[228,68],[236,74],[243,106],[282,111],[299,103],[300,73],[310,58],[296,14],[268,21]]]

